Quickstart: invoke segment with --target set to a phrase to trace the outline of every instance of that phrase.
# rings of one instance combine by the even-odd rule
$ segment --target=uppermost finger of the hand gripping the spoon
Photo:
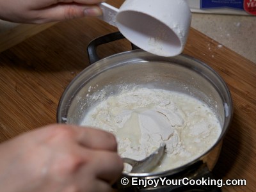
[[[36,143],[53,140],[55,138],[54,140],[60,143],[73,140],[83,147],[95,150],[117,151],[116,138],[113,134],[92,127],[53,124],[41,127],[41,129],[35,129],[27,134],[30,134],[31,141],[35,140]],[[24,136],[26,136],[26,134],[20,137]]]

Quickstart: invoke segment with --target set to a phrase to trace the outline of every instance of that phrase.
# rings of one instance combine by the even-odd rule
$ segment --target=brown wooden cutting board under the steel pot
[[[116,2],[118,6],[120,1]],[[95,18],[70,20],[2,52],[0,142],[55,123],[63,90],[88,66],[86,46],[93,38],[114,31]],[[220,43],[191,28],[184,53],[214,68],[234,100],[234,118],[214,174],[224,180],[247,180],[246,186],[224,186],[223,191],[256,191],[256,64]],[[99,47],[99,55],[130,49],[129,42],[121,40]]]

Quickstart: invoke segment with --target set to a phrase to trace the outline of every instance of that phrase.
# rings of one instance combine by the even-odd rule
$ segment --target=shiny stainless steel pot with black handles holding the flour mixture
[[[232,98],[223,79],[207,64],[184,54],[165,58],[149,54],[142,50],[121,52],[108,58],[99,60],[96,54],[97,46],[111,42],[113,39],[123,38],[120,33],[115,33],[97,38],[88,46],[88,55],[93,63],[85,68],[67,87],[58,106],[58,123],[80,124],[84,114],[97,102],[106,99],[109,95],[120,92],[120,84],[127,86],[139,85],[165,90],[182,92],[202,100],[210,106],[221,122],[222,132],[218,141],[209,150],[194,161],[184,164],[179,168],[159,173],[128,173],[122,177],[132,179],[157,179],[167,177],[179,178],[212,178],[211,170],[214,168],[221,150],[221,141],[227,132],[232,120]],[[93,89],[90,89],[93,87]],[[87,94],[100,92],[108,87],[102,99],[93,100]],[[90,90],[90,91],[89,91]],[[190,186],[195,188],[195,186]],[[120,180],[115,188],[128,191],[174,191],[184,190],[188,186],[124,186]],[[196,186],[200,190],[210,191],[211,186]]]

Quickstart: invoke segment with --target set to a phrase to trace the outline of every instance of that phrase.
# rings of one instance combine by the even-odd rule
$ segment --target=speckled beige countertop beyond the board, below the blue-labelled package
[[[256,16],[193,13],[191,26],[256,63]]]

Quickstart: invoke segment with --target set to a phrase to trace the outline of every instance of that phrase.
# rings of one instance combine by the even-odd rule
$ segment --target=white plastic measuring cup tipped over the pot
[[[120,9],[101,3],[100,19],[116,26],[132,44],[159,56],[180,54],[191,12],[186,0],[126,0]]]

